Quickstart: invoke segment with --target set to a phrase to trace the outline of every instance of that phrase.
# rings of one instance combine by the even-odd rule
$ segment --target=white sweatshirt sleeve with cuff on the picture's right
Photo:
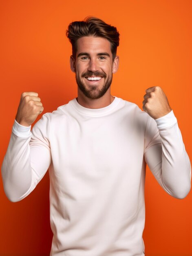
[[[175,198],[185,198],[191,186],[191,164],[173,111],[149,118],[144,157],[161,187]]]

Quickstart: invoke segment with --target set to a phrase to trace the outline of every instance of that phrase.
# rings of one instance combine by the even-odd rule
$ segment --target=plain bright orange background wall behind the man
[[[4,0],[0,2],[0,164],[22,92],[38,92],[44,113],[77,97],[65,31],[70,22],[88,15],[114,25],[120,33],[120,66],[111,94],[142,109],[145,90],[161,86],[192,159],[191,0]],[[0,255],[48,256],[52,240],[48,173],[16,203],[6,198],[0,179],[0,202]],[[192,255],[191,230],[192,193],[183,200],[172,198],[147,167],[146,255]]]

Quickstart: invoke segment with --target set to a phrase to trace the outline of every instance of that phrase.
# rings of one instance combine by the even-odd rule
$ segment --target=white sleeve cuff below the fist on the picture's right
[[[171,127],[177,123],[177,118],[175,117],[173,110],[171,110],[167,115],[154,119],[157,123],[157,128],[163,130],[165,128]]]

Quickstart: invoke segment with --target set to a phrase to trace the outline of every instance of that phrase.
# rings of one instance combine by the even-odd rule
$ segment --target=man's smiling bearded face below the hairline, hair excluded
[[[95,36],[79,38],[76,59],[71,56],[71,69],[76,74],[79,89],[86,97],[102,97],[110,87],[113,77],[110,42]]]

